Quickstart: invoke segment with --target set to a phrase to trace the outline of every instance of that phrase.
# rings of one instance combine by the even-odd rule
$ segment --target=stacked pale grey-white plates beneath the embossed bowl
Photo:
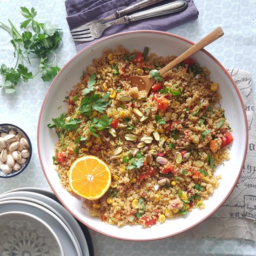
[[[19,211],[34,215],[54,230],[65,256],[92,256],[80,225],[56,200],[54,193],[45,189],[13,189],[0,195],[0,214]]]

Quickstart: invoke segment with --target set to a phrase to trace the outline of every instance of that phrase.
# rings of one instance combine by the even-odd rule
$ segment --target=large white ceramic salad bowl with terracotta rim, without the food
[[[218,43],[217,41],[215,43]],[[44,174],[53,189],[55,195],[61,203],[81,222],[88,227],[115,238],[126,240],[154,240],[168,236],[174,236],[199,224],[212,215],[228,198],[234,189],[241,174],[245,161],[248,144],[248,125],[243,101],[235,82],[226,72],[225,68],[207,51],[201,50],[194,54],[201,66],[206,66],[211,71],[212,81],[220,84],[222,94],[221,105],[225,109],[225,116],[230,126],[233,128],[232,135],[234,142],[230,151],[230,161],[225,165],[218,166],[216,175],[222,175],[220,185],[209,200],[205,201],[205,209],[194,209],[188,215],[167,220],[162,225],[144,229],[142,226],[125,226],[117,228],[106,225],[99,219],[90,217],[89,210],[83,208],[83,199],[79,196],[70,195],[67,190],[61,187],[59,177],[54,171],[52,156],[54,155],[54,143],[58,138],[54,132],[47,128],[51,122],[51,117],[60,115],[67,108],[63,104],[63,99],[72,85],[79,81],[83,69],[92,63],[94,58],[101,56],[105,48],[115,48],[118,45],[127,47],[130,51],[134,49],[143,51],[144,47],[150,47],[151,53],[159,56],[179,55],[187,50],[193,42],[180,36],[159,31],[136,31],[121,33],[92,43],[89,47],[76,54],[56,76],[52,82],[47,95],[43,101],[38,122],[38,153]],[[61,109],[58,107],[62,105]]]

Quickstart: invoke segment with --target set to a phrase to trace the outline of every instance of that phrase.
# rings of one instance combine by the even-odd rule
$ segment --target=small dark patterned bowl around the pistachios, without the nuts
[[[2,172],[2,170],[0,169],[0,178],[11,178],[11,177],[14,177],[14,176],[17,176],[19,175],[20,173],[22,173],[28,166],[30,160],[31,160],[31,157],[32,157],[32,144],[31,144],[31,141],[29,139],[29,137],[27,136],[27,134],[18,126],[14,125],[14,124],[9,124],[9,123],[2,123],[0,124],[0,134],[1,133],[9,133],[10,130],[14,130],[16,132],[16,134],[21,134],[23,135],[28,143],[29,143],[29,157],[27,157],[27,161],[21,165],[21,168],[20,170],[18,171],[12,171],[11,173],[8,173],[8,174],[4,174]]]

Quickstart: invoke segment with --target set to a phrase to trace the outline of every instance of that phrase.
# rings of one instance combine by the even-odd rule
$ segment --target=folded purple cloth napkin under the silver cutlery
[[[109,15],[115,13],[116,10],[122,10],[125,7],[128,7],[129,5],[139,1],[141,0],[66,0],[65,5],[67,10],[67,23],[69,28],[73,29],[91,20],[108,17]],[[157,7],[159,5],[167,4],[173,1],[164,0],[147,8]],[[198,18],[198,10],[196,9],[193,0],[186,1],[189,5],[182,12],[166,14],[145,20],[137,20],[124,25],[112,26],[107,28],[99,39],[95,39],[89,42],[75,41],[76,50],[79,52],[83,48],[90,45],[92,42],[116,33],[134,30],[167,31],[185,22],[196,20]],[[137,10],[136,12],[141,12],[144,10],[145,8]]]

